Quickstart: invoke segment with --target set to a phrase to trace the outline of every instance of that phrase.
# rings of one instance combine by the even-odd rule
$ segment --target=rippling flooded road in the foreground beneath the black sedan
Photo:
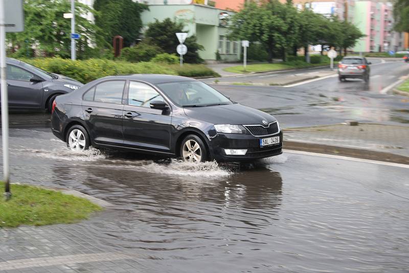
[[[190,165],[72,152],[42,127],[10,137],[12,181],[116,204],[74,229],[101,249],[139,255],[143,272],[409,270],[407,168],[293,152]]]

